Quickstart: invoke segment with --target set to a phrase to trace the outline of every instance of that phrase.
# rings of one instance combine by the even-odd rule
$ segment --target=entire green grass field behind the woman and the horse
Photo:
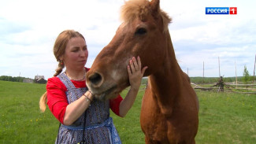
[[[43,84],[0,81],[0,143],[51,144],[58,133],[58,120],[46,109],[39,112]],[[124,90],[125,95],[127,91]],[[113,116],[125,144],[144,143],[139,125],[143,89],[124,118]],[[256,95],[197,92],[200,102],[196,142],[233,144],[256,142]]]

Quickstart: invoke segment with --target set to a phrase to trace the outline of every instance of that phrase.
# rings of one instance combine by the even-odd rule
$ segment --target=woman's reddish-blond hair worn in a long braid
[[[58,35],[57,39],[54,43],[54,56],[56,57],[56,60],[58,61],[58,68],[56,69],[56,72],[54,76],[58,76],[62,69],[65,67],[63,61],[61,61],[61,57],[65,54],[65,48],[69,42],[69,39],[81,37],[84,39],[83,35],[81,35],[78,31],[74,30],[65,30]],[[84,39],[85,40],[85,39]],[[42,112],[46,110],[46,102],[47,102],[47,92],[45,92],[39,101],[39,108]]]

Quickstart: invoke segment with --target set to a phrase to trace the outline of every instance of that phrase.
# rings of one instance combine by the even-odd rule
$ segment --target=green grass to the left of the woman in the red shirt
[[[46,85],[0,81],[0,143],[54,143],[58,121],[39,112]]]

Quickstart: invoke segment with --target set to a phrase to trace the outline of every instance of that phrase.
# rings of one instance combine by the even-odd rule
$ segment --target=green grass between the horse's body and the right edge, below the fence
[[[256,95],[197,92],[198,143],[255,143]]]

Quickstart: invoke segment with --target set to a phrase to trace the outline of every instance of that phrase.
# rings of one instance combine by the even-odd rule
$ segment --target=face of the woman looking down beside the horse
[[[87,62],[87,57],[88,50],[85,40],[81,37],[69,39],[63,56],[66,68],[73,70],[83,69]]]

